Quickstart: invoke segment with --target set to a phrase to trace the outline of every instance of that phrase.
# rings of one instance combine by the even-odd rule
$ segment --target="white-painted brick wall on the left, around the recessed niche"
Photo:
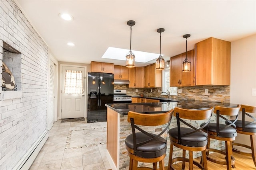
[[[46,129],[48,47],[14,0],[0,0],[1,67],[2,41],[21,52],[20,90],[0,89],[0,170],[11,170]]]

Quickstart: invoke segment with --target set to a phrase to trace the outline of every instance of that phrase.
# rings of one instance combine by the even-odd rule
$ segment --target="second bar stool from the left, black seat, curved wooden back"
[[[210,122],[213,108],[205,110],[188,110],[178,107],[174,108],[174,116],[177,119],[177,127],[168,131],[170,136],[170,155],[168,162],[168,170],[174,170],[173,163],[176,161],[182,161],[182,169],[185,168],[185,162],[189,162],[189,169],[193,169],[193,164],[200,169],[207,170],[206,162],[206,145],[207,145],[207,133],[201,131],[204,127],[207,127]],[[192,126],[190,120],[207,120],[204,126],[197,128]],[[205,122],[205,121],[204,121]],[[180,124],[186,125],[186,127]],[[173,146],[182,149],[182,157],[172,158]],[[186,150],[189,151],[189,158],[186,158]],[[196,161],[193,161],[193,151],[201,151],[203,158],[203,166]]]

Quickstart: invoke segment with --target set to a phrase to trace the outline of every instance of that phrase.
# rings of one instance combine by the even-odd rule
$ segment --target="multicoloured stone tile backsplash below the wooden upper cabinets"
[[[162,88],[128,88],[126,84],[114,84],[114,89],[127,90],[130,96],[144,97],[167,97],[161,96]],[[138,92],[136,92],[136,89]],[[152,92],[150,90],[152,89]],[[230,103],[230,86],[191,86],[191,87],[178,87],[181,93],[178,96],[171,96],[174,100],[199,100],[210,102]],[[205,89],[208,89],[209,95],[204,94]],[[160,92],[158,92],[158,90]]]

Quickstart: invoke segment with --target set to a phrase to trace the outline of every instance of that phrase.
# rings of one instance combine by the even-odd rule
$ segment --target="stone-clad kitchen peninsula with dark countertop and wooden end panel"
[[[130,123],[127,121],[128,111],[135,111],[139,113],[152,114],[163,113],[180,107],[184,109],[204,109],[215,106],[232,107],[237,104],[219,103],[219,102],[205,102],[195,100],[184,100],[178,102],[158,102],[158,103],[124,103],[124,104],[105,104],[107,107],[107,158],[110,162],[112,170],[126,170],[129,166],[130,158],[127,155],[125,148],[125,138],[132,133]],[[175,117],[172,117],[170,127],[176,126]],[[195,122],[200,125],[200,122]],[[161,131],[162,126],[152,127],[149,131]],[[166,158],[164,159],[164,166],[168,164],[168,157],[170,151],[170,140],[167,140]],[[213,141],[216,148],[224,148],[219,141]],[[182,150],[175,153],[175,157],[182,154]],[[196,157],[199,157],[198,152]],[[144,165],[145,166],[145,165]]]

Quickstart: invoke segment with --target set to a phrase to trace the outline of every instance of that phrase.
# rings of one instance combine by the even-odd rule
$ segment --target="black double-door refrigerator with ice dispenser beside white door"
[[[107,107],[113,103],[114,74],[88,72],[87,123],[107,121]]]

